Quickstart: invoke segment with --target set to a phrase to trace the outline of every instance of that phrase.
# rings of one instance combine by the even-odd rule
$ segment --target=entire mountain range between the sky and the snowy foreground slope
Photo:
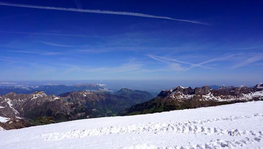
[[[59,85],[55,89],[59,92]],[[54,87],[54,86],[53,86]],[[64,90],[65,85],[60,91]],[[263,99],[263,83],[255,87],[191,87],[177,86],[162,90],[153,98],[147,91],[122,88],[110,93],[99,84],[77,84],[70,89],[98,89],[99,91],[70,91],[47,95],[45,91],[30,94],[9,92],[0,95],[0,127],[5,130],[38,125],[32,120],[51,116],[56,122],[77,119],[147,114],[171,110],[208,107]],[[46,88],[46,87],[43,87]]]

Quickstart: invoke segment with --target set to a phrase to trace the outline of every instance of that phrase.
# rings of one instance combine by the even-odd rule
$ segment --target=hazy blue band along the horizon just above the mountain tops
[[[261,83],[236,83],[231,84],[228,82],[220,83],[214,81],[213,83],[205,81],[202,83],[195,83],[194,81],[171,81],[171,80],[34,80],[34,81],[0,81],[0,87],[17,86],[17,87],[36,87],[41,85],[66,85],[72,86],[75,84],[104,84],[104,88],[119,90],[123,87],[129,89],[145,90],[150,92],[160,92],[163,89],[171,89],[177,86],[183,87],[202,87],[205,85],[218,85],[218,86],[248,86],[254,87],[256,84]]]

